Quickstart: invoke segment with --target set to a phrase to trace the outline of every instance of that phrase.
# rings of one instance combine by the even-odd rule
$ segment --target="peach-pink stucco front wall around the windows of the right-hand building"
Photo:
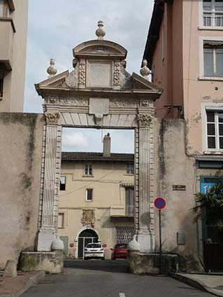
[[[199,29],[200,1],[183,1],[183,78],[184,106],[188,129],[188,152],[202,154],[206,151],[206,122],[202,105],[223,103],[223,84],[220,80],[201,79],[203,60],[199,48],[201,38],[222,38],[222,30]],[[202,47],[201,47],[202,48]],[[202,118],[203,117],[203,118]]]

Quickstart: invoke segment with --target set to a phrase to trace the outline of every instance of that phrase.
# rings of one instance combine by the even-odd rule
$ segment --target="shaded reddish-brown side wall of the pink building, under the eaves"
[[[167,111],[164,106],[182,106],[182,0],[164,5],[151,70],[153,82],[164,89],[160,99],[155,102],[157,117],[164,117]],[[169,117],[178,117],[178,110],[171,110]]]

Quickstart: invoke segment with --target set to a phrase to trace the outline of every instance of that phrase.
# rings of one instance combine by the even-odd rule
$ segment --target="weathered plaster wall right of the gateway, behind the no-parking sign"
[[[157,196],[166,198],[161,210],[162,249],[179,253],[187,259],[190,269],[198,259],[196,224],[192,208],[196,193],[196,167],[194,157],[185,154],[185,123],[181,119],[155,119],[154,175]],[[185,191],[174,191],[173,185],[185,185]],[[158,210],[154,211],[156,247],[159,250]],[[185,245],[177,245],[177,233],[185,232]],[[184,263],[185,266],[185,263]]]

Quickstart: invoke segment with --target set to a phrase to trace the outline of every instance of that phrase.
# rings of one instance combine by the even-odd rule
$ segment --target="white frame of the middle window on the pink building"
[[[223,77],[218,76],[204,76],[204,61],[203,61],[203,43],[204,41],[223,41],[223,37],[210,37],[202,36],[199,39],[199,60],[200,60],[200,73],[199,80],[223,80]]]

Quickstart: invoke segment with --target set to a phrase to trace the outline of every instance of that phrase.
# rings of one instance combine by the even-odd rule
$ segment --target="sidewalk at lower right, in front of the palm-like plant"
[[[223,296],[223,273],[173,273],[171,276],[203,291]]]

